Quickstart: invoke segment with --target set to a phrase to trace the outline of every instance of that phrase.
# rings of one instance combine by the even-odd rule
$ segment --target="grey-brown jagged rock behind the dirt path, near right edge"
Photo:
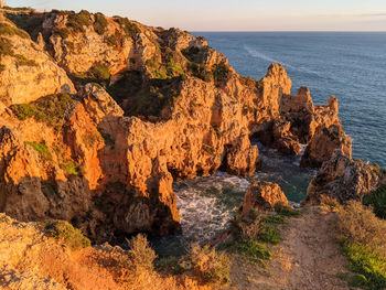
[[[305,203],[319,203],[322,195],[340,203],[362,197],[379,185],[379,169],[362,160],[353,160],[336,150],[325,161],[307,190]]]

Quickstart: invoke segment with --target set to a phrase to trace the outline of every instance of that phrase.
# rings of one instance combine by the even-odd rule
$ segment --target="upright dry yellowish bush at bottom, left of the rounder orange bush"
[[[142,234],[127,240],[130,249],[129,268],[133,272],[152,271],[153,261],[157,258],[154,250],[149,246],[148,239]]]

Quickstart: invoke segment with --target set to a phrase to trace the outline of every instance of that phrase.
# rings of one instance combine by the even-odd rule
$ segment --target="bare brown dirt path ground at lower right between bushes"
[[[351,289],[337,277],[349,266],[335,239],[334,218],[317,207],[289,218],[281,229],[283,240],[271,248],[274,257],[265,268],[234,260],[230,289]]]

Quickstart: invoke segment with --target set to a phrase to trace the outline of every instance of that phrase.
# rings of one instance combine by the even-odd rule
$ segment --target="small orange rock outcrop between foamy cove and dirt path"
[[[275,205],[281,203],[288,205],[286,194],[279,184],[268,181],[254,181],[249,184],[239,213],[248,214],[251,210],[275,211]]]

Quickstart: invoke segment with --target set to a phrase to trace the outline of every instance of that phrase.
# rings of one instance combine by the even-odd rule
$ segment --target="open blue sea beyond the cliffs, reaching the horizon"
[[[292,94],[310,88],[314,104],[337,97],[353,158],[386,167],[386,32],[193,32],[243,76],[262,78],[281,63]]]

